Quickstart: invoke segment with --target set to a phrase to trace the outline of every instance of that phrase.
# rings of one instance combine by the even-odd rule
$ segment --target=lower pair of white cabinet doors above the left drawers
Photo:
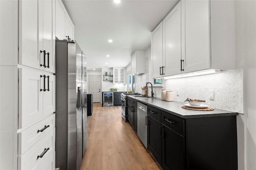
[[[19,68],[19,128],[24,128],[55,111],[55,76]]]

